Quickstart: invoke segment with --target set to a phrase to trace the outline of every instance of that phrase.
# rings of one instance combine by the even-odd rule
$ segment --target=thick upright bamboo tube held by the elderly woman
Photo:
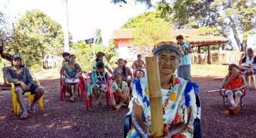
[[[160,74],[156,56],[146,57],[146,74],[148,76],[149,101],[151,110],[151,128],[155,137],[163,136],[163,103]]]

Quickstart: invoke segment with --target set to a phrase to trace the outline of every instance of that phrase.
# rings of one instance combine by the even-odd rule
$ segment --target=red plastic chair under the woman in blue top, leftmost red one
[[[63,97],[66,97],[66,83],[63,82],[63,75],[60,75],[60,100],[63,101]],[[83,76],[80,76],[80,83],[78,83],[78,97],[80,97],[80,92],[81,92],[81,98],[84,98],[84,86],[83,86]]]

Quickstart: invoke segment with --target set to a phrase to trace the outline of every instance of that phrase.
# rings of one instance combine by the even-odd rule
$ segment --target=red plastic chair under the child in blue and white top
[[[85,106],[85,109],[88,111],[89,110],[89,105],[92,106],[92,95],[91,94],[89,97],[87,97],[87,94],[88,94],[88,82],[89,82],[89,79],[90,77],[92,76],[92,73],[87,73],[86,74],[86,79],[84,80],[84,89],[85,89],[85,100],[86,100],[86,106]],[[113,95],[113,90],[112,90],[112,78],[110,77],[109,79],[109,82],[108,82],[109,86],[108,86],[108,90],[105,94],[106,96],[106,103],[107,105],[109,106],[109,103],[108,103],[108,97],[110,97],[110,108],[111,109],[114,109],[114,95]]]

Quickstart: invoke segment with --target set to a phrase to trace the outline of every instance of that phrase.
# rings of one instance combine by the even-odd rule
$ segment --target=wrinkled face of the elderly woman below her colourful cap
[[[178,55],[169,50],[161,50],[157,56],[158,68],[162,74],[172,74],[176,70],[179,64]]]

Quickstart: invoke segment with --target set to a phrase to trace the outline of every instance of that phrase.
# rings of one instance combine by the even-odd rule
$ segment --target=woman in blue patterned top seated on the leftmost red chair
[[[77,91],[78,91],[78,83],[80,82],[80,75],[83,73],[81,67],[78,63],[75,62],[75,55],[69,56],[69,61],[64,63],[61,67],[60,74],[65,76],[65,82],[67,83],[67,92],[70,95],[70,101],[75,101]],[[78,71],[79,72],[78,72]],[[73,85],[73,94],[72,88]]]

